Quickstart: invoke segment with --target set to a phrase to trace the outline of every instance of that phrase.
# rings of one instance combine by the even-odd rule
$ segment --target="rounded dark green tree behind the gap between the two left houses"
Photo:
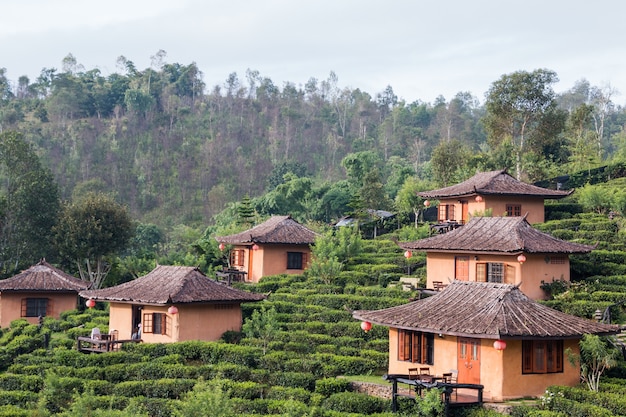
[[[125,249],[134,235],[126,207],[105,194],[88,194],[65,204],[55,240],[66,263],[98,289],[111,269],[111,257]]]

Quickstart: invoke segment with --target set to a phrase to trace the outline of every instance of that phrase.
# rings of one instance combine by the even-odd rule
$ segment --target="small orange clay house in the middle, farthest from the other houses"
[[[223,250],[231,246],[229,267],[243,276],[242,281],[259,282],[268,275],[304,272],[316,237],[290,216],[272,216],[251,229],[215,239]]]

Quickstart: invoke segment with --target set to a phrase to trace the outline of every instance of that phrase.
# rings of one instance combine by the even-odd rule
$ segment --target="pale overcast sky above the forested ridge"
[[[546,68],[557,92],[587,79],[626,103],[623,0],[2,0],[0,68],[34,82],[74,55],[119,72],[195,62],[208,87],[257,70],[281,87],[310,78],[407,103],[468,91],[480,102],[504,74]]]

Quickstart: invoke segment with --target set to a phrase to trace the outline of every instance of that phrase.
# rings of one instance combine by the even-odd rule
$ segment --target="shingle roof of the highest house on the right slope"
[[[517,196],[534,196],[542,198],[563,198],[573,192],[550,190],[547,188],[537,187],[535,185],[526,184],[518,181],[505,170],[480,172],[472,178],[465,180],[459,184],[450,187],[440,188],[438,190],[422,191],[417,193],[423,198],[450,198],[465,197],[473,195],[517,195]]]

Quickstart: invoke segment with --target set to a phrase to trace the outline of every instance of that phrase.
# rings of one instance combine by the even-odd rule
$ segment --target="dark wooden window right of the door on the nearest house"
[[[562,340],[522,341],[522,373],[549,374],[563,372]]]

